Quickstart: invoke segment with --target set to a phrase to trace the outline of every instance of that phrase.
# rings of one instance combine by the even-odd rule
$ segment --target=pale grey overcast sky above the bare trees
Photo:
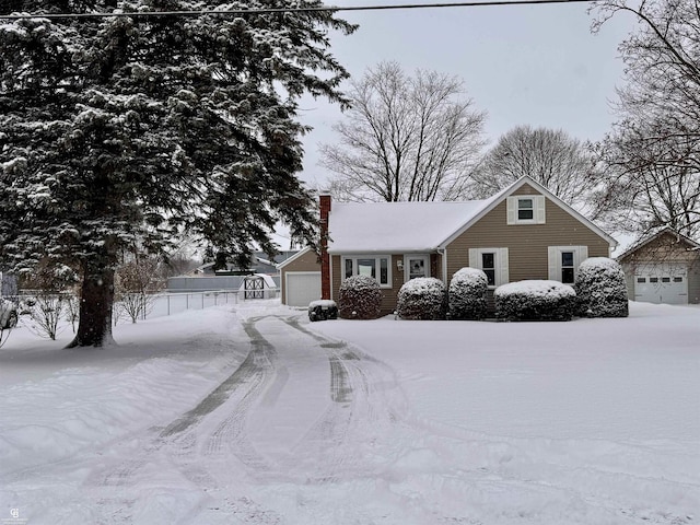
[[[517,125],[561,128],[582,140],[598,140],[610,128],[610,102],[622,84],[617,47],[637,21],[621,13],[593,35],[586,9],[586,3],[572,3],[341,12],[360,28],[334,36],[332,52],[353,77],[384,60],[399,62],[407,72],[421,68],[459,77],[475,107],[488,112],[491,143]],[[336,140],[330,127],[342,114],[313,100],[305,100],[302,109],[303,121],[315,128],[304,140],[302,178],[324,186],[327,173],[318,165],[318,143]]]

